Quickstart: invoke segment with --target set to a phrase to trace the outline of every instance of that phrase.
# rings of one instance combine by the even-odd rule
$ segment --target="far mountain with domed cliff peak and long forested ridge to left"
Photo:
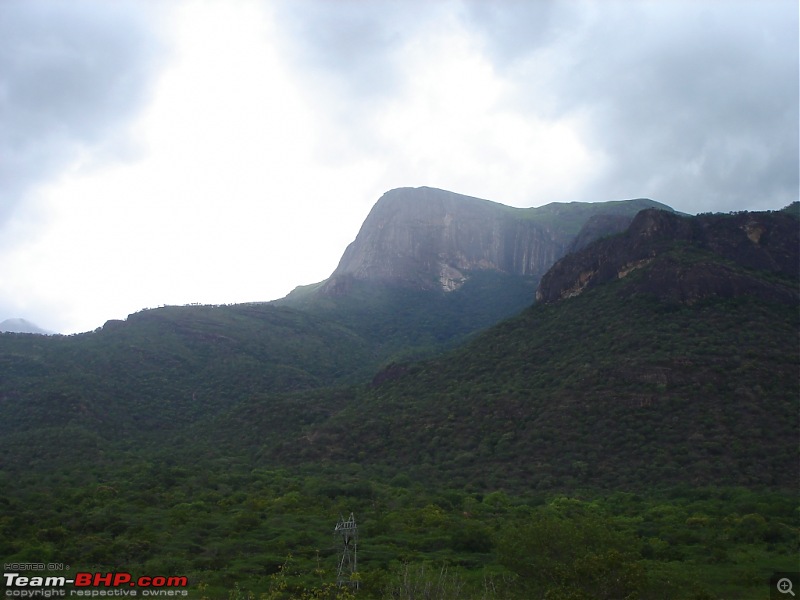
[[[167,306],[77,336],[0,336],[0,434],[60,424],[123,439],[146,424],[142,435],[157,436],[251,395],[368,381],[387,361],[432,355],[530,305],[592,215],[629,219],[653,204],[513,209],[388,192],[303,301]],[[442,265],[460,269],[457,286],[425,283]]]

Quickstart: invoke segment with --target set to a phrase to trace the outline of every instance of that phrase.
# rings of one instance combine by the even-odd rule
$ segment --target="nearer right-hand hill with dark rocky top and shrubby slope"
[[[282,423],[260,455],[478,488],[792,488],[799,231],[785,213],[645,210],[556,263],[519,316],[388,366],[331,398],[332,414],[312,400],[317,416]],[[253,398],[216,426],[246,445],[274,431],[266,406]]]

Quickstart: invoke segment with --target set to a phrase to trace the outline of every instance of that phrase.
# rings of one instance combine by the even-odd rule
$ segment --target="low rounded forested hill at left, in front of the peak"
[[[250,394],[361,380],[370,361],[353,332],[267,304],[164,307],[76,336],[2,334],[0,448],[10,468],[69,463],[71,440],[141,447]]]

